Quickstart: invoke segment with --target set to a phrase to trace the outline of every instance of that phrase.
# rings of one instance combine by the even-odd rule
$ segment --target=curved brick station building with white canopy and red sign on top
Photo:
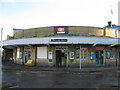
[[[78,67],[118,65],[120,30],[89,26],[51,26],[13,29],[3,42],[3,59],[36,66]],[[110,26],[111,27],[111,26]]]

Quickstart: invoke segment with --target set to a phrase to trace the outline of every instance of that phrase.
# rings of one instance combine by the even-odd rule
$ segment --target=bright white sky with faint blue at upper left
[[[13,28],[118,25],[119,0],[0,0],[3,39]],[[113,14],[111,13],[113,12]],[[0,34],[1,35],[1,34]]]

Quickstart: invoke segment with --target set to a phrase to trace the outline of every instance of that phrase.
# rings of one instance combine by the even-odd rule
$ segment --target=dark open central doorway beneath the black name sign
[[[56,49],[56,67],[65,67],[67,64],[67,50],[66,48]]]

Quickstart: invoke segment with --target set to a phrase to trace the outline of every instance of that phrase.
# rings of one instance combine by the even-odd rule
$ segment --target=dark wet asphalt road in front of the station
[[[13,67],[12,67],[13,68]],[[14,67],[16,68],[16,67]],[[98,88],[118,86],[119,71],[111,72],[70,72],[2,70],[3,83],[11,88]]]

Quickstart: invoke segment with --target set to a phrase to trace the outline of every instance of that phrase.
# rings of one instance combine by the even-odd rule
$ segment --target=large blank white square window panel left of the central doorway
[[[37,58],[47,59],[47,47],[37,47]]]

